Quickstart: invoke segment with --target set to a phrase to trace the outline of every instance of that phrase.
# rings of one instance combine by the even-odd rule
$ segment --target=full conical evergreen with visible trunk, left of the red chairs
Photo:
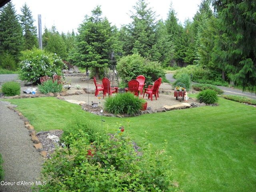
[[[70,61],[86,70],[93,68],[98,79],[100,70],[111,63],[110,54],[116,47],[114,29],[107,18],[102,18],[100,6],[97,6],[92,10],[92,16],[86,15],[78,28],[76,45]]]

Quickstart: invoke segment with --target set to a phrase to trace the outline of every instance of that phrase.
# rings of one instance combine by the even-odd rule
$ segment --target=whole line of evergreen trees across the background
[[[132,22],[118,29],[100,6],[86,15],[78,32],[44,28],[43,48],[62,60],[90,68],[97,76],[120,57],[139,54],[163,67],[188,65],[214,71],[222,80],[253,90],[256,85],[256,0],[202,0],[192,20],[178,22],[170,4],[166,20],[156,20],[146,0],[138,0]],[[0,10],[0,66],[13,69],[20,53],[38,47],[27,4],[17,15],[12,2]]]

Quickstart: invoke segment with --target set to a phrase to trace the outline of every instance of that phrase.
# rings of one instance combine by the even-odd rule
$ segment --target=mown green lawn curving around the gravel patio
[[[101,131],[101,117],[56,98],[8,100],[36,131],[63,129],[81,118]],[[103,117],[104,129],[125,127],[125,134],[154,150],[164,146],[172,156],[173,176],[186,192],[251,192],[256,190],[256,108],[224,98],[219,106],[145,114],[132,118]],[[129,121],[129,126],[127,125]],[[146,136],[145,136],[146,135]]]

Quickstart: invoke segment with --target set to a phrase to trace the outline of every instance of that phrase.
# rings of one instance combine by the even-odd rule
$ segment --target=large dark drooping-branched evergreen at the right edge
[[[213,5],[220,30],[215,56],[223,60],[230,80],[242,85],[243,90],[253,91],[256,86],[256,0],[214,0]]]

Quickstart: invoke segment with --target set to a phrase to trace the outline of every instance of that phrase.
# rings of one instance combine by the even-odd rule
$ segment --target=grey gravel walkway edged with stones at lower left
[[[5,170],[0,192],[30,192],[30,183],[40,181],[44,159],[36,152],[24,121],[7,106],[0,101],[0,154]]]

